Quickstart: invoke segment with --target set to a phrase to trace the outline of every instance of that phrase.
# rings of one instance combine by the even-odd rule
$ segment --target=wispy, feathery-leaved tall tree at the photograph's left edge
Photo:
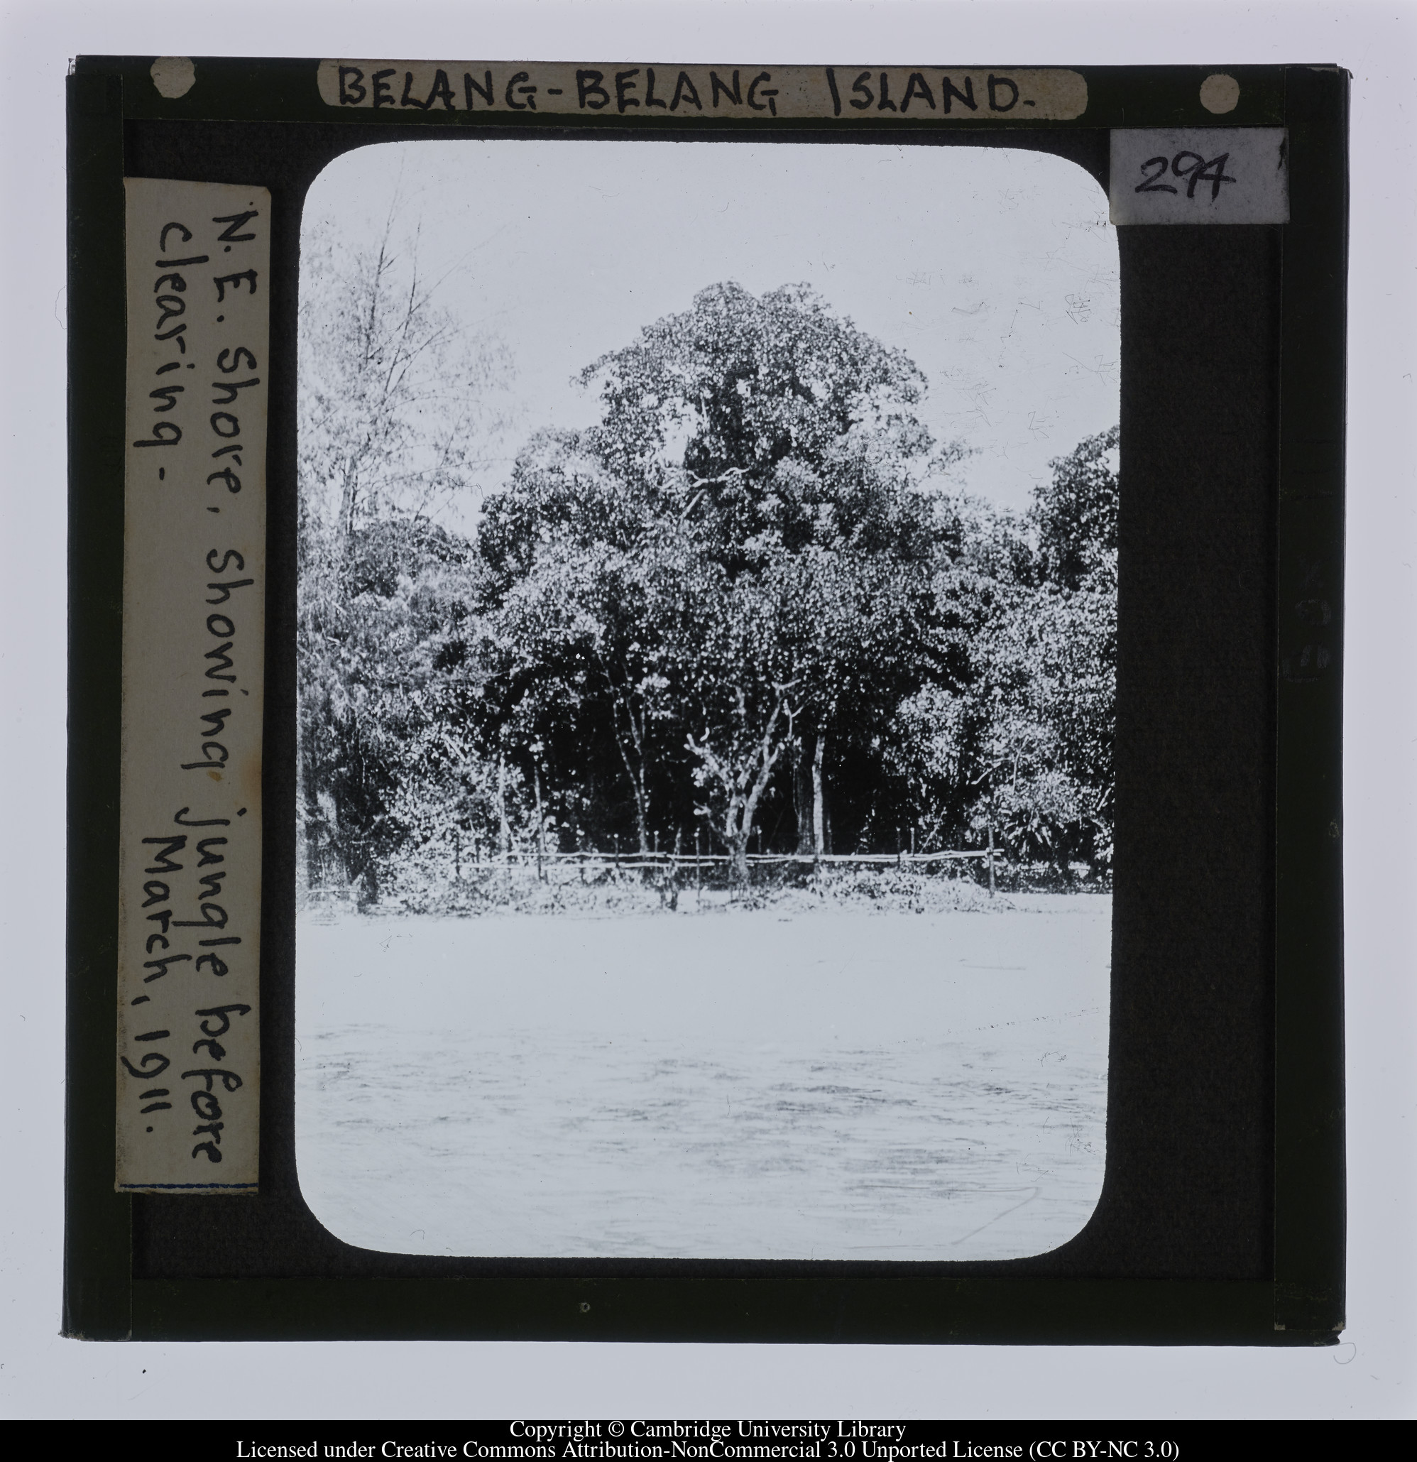
[[[433,588],[466,557],[436,519],[472,485],[510,373],[439,304],[395,212],[369,247],[326,228],[301,251],[300,800],[310,876],[366,889],[428,715],[420,656],[465,599]]]

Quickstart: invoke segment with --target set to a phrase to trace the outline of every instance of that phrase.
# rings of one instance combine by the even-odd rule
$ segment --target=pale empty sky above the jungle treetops
[[[519,427],[585,425],[573,377],[642,325],[736,279],[810,284],[926,373],[962,478],[1013,506],[1117,421],[1120,287],[1107,197],[1079,167],[993,148],[673,142],[398,142],[316,178],[306,227],[418,231],[437,300],[515,360]]]

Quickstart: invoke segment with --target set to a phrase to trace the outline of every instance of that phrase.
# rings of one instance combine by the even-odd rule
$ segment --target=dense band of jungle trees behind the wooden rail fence
[[[734,284],[592,363],[468,538],[307,507],[314,880],[430,848],[1110,861],[1116,431],[1022,518],[949,481],[914,364]],[[335,471],[303,436],[303,494]]]

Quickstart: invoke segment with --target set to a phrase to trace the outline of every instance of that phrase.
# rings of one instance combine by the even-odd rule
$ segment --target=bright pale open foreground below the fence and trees
[[[1110,899],[303,920],[300,1177],[402,1253],[1005,1259],[1101,1190]]]

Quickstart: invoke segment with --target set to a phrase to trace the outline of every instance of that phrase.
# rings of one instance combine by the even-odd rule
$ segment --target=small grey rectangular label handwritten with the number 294
[[[1287,224],[1284,127],[1177,127],[1111,135],[1114,224]]]

